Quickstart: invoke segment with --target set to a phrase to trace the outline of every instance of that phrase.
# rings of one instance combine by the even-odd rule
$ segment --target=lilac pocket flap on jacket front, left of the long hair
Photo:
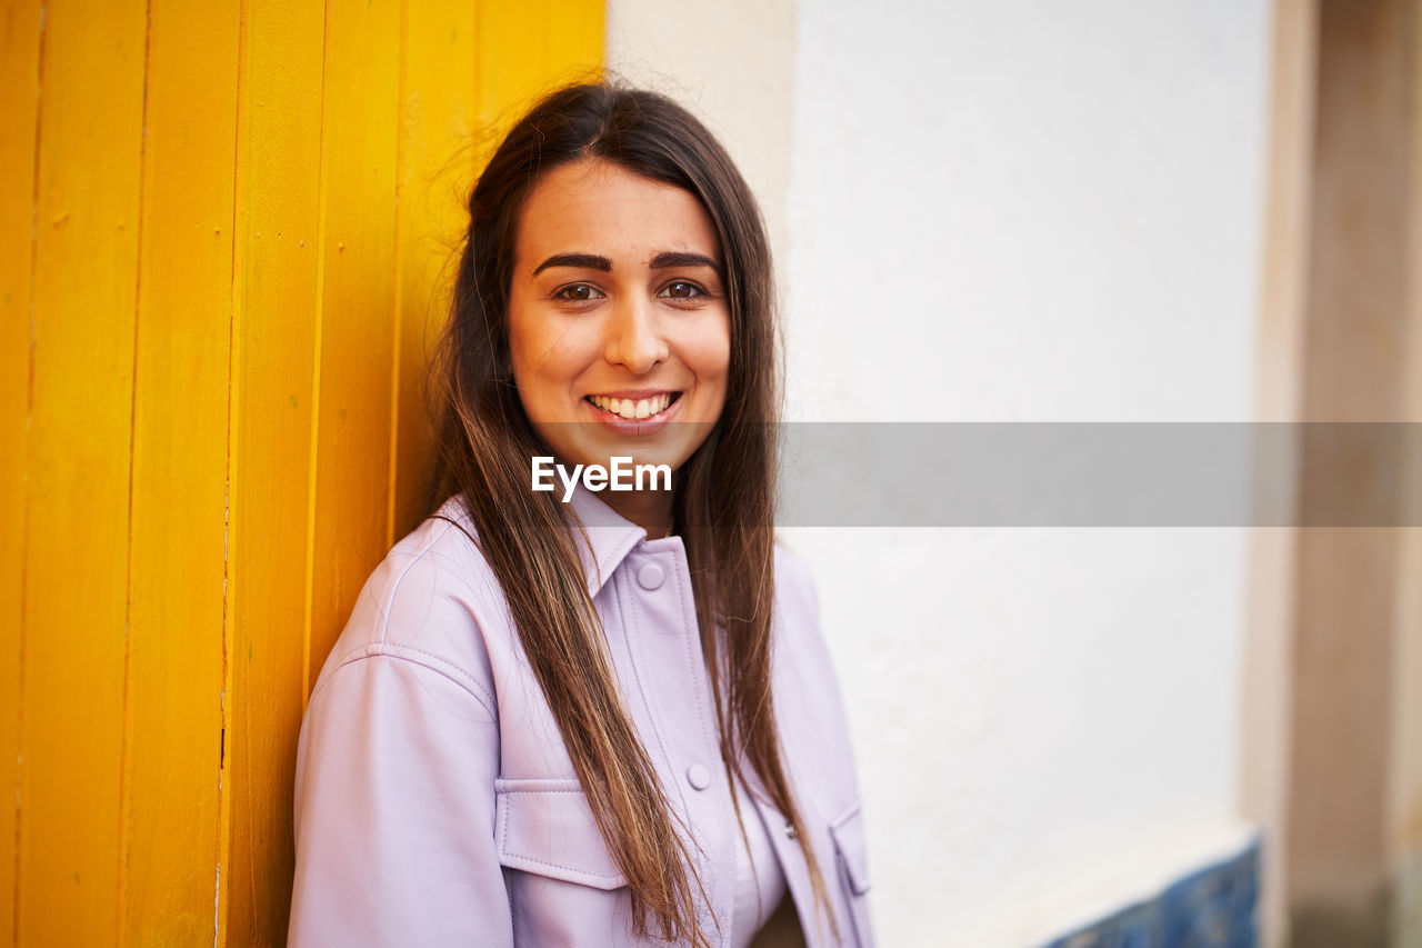
[[[576,779],[501,779],[493,793],[499,864],[594,888],[627,884]]]

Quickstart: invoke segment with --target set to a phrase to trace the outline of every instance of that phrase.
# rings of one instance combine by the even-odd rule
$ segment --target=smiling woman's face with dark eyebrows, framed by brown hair
[[[587,159],[519,219],[509,347],[523,410],[565,464],[677,470],[725,404],[721,243],[687,191]]]

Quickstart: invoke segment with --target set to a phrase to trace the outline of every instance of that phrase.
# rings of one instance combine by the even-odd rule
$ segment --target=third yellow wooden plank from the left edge
[[[237,0],[149,6],[121,942],[212,938]]]

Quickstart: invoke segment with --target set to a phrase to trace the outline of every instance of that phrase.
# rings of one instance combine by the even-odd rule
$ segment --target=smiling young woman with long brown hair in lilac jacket
[[[745,182],[670,100],[573,85],[469,216],[448,500],[311,693],[292,944],[744,948],[778,908],[808,945],[872,944],[839,690],[774,542]],[[667,475],[636,490],[641,465]]]

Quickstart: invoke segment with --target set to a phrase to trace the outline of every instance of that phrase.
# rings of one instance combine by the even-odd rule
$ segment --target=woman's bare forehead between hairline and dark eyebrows
[[[711,216],[684,188],[651,181],[606,161],[560,165],[533,188],[519,216],[516,266],[555,253],[597,253],[617,266],[690,251],[721,259]]]

